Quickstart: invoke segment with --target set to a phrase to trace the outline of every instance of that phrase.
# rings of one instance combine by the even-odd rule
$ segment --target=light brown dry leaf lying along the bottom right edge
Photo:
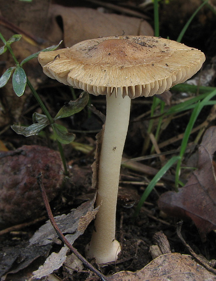
[[[165,254],[136,272],[122,271],[109,281],[216,281],[216,276],[188,255]]]

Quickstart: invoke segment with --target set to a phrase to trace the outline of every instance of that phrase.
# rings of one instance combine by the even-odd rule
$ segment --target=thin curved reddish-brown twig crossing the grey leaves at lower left
[[[108,281],[108,279],[100,272],[98,271],[96,268],[94,268],[86,259],[85,257],[83,257],[77,249],[75,249],[70,242],[64,237],[63,233],[61,232],[61,230],[59,229],[58,225],[55,222],[55,219],[53,217],[49,202],[48,202],[48,198],[45,192],[45,188],[42,182],[42,172],[39,173],[39,175],[36,177],[37,178],[37,183],[40,187],[41,193],[42,193],[42,197],[43,197],[43,202],[45,204],[45,208],[48,214],[48,217],[50,219],[50,222],[55,230],[55,232],[57,233],[59,239],[66,245],[68,246],[68,248],[84,263],[84,265],[90,269],[92,272],[94,272],[97,276],[99,276],[101,278],[102,281]]]

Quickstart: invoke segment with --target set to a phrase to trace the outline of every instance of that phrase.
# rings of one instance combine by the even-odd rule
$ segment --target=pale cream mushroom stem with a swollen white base
[[[130,118],[130,98],[112,94],[107,96],[107,113],[101,147],[96,204],[101,205],[89,244],[89,257],[97,263],[115,261],[121,246],[115,240],[116,204],[122,153]]]

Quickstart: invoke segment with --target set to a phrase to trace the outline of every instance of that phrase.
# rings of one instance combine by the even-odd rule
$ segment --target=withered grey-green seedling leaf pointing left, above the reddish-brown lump
[[[48,124],[37,123],[32,124],[28,127],[20,125],[12,125],[11,129],[15,131],[18,135],[23,135],[25,137],[36,136],[38,135]]]

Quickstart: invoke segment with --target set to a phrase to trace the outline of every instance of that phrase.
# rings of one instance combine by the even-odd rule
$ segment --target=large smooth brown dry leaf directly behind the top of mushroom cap
[[[66,47],[100,36],[154,35],[150,24],[134,17],[103,13],[91,8],[69,8],[60,5],[53,5],[50,13],[54,17],[62,18]]]

